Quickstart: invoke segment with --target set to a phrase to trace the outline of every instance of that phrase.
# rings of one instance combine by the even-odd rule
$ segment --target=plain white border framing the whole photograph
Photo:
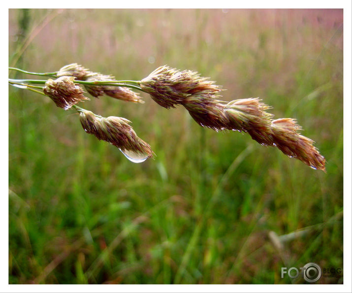
[[[10,8],[343,8],[344,9],[344,270],[346,276],[343,285],[9,285],[8,284],[8,261],[3,261],[0,265],[0,291],[1,292],[352,292],[352,4],[351,0],[317,1],[317,0],[296,0],[296,1],[274,1],[274,0],[247,0],[232,2],[217,1],[141,1],[135,0],[133,3],[121,3],[120,1],[72,1],[61,0],[28,1],[17,0],[1,11],[1,21],[3,22],[1,33],[2,40],[6,43],[8,50],[8,9]],[[100,4],[100,5],[99,5]],[[133,4],[133,7],[130,5]],[[170,5],[171,4],[171,5]],[[98,6],[99,5],[99,6]],[[118,6],[116,6],[118,5]],[[4,50],[4,48],[3,48]],[[5,51],[5,50],[4,50]],[[8,52],[3,52],[1,58],[2,74],[7,75]],[[3,77],[3,80],[7,77]],[[4,84],[5,93],[2,95],[1,103],[8,109],[8,86]],[[7,95],[6,95],[7,93]],[[1,260],[8,260],[8,112],[0,115],[1,137],[7,137],[7,143],[1,145],[1,232],[5,241],[1,242]],[[309,286],[309,287],[308,287]]]

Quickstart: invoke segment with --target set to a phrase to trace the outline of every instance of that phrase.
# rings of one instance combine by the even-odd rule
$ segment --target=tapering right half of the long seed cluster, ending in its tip
[[[294,119],[272,120],[273,115],[266,112],[268,108],[257,98],[231,101],[224,106],[228,119],[225,128],[249,133],[261,145],[276,146],[288,157],[325,171],[325,159],[313,146],[314,141],[298,133],[302,128]]]

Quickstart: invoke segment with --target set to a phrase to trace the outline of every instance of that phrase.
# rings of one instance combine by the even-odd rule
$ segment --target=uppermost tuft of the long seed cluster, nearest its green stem
[[[194,94],[215,95],[221,87],[202,78],[190,70],[179,71],[166,65],[154,70],[148,77],[140,81],[143,91],[149,93],[152,99],[165,108],[175,107]]]

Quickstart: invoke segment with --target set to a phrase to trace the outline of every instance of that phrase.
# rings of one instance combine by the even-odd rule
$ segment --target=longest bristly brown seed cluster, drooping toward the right
[[[183,105],[202,127],[216,131],[235,130],[251,135],[261,145],[276,146],[285,155],[325,171],[325,159],[313,140],[300,135],[293,119],[272,120],[267,105],[257,98],[218,100],[221,87],[197,73],[161,66],[140,81],[142,90],[165,108]]]

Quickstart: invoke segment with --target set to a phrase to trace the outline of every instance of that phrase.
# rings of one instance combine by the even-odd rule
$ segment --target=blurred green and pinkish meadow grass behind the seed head
[[[282,266],[342,267],[342,24],[342,9],[10,9],[9,66],[198,71],[224,100],[260,97],[296,118],[327,172],[144,93],[144,105],[91,97],[84,108],[131,120],[156,153],[134,164],[73,110],[10,87],[9,283],[289,284],[305,281]]]

